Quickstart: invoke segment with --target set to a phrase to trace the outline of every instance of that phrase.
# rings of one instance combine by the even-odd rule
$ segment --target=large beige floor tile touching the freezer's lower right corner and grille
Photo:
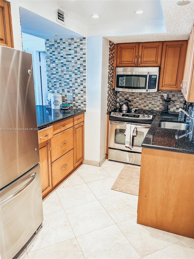
[[[32,252],[75,237],[64,210],[44,215],[42,229],[27,242]]]

